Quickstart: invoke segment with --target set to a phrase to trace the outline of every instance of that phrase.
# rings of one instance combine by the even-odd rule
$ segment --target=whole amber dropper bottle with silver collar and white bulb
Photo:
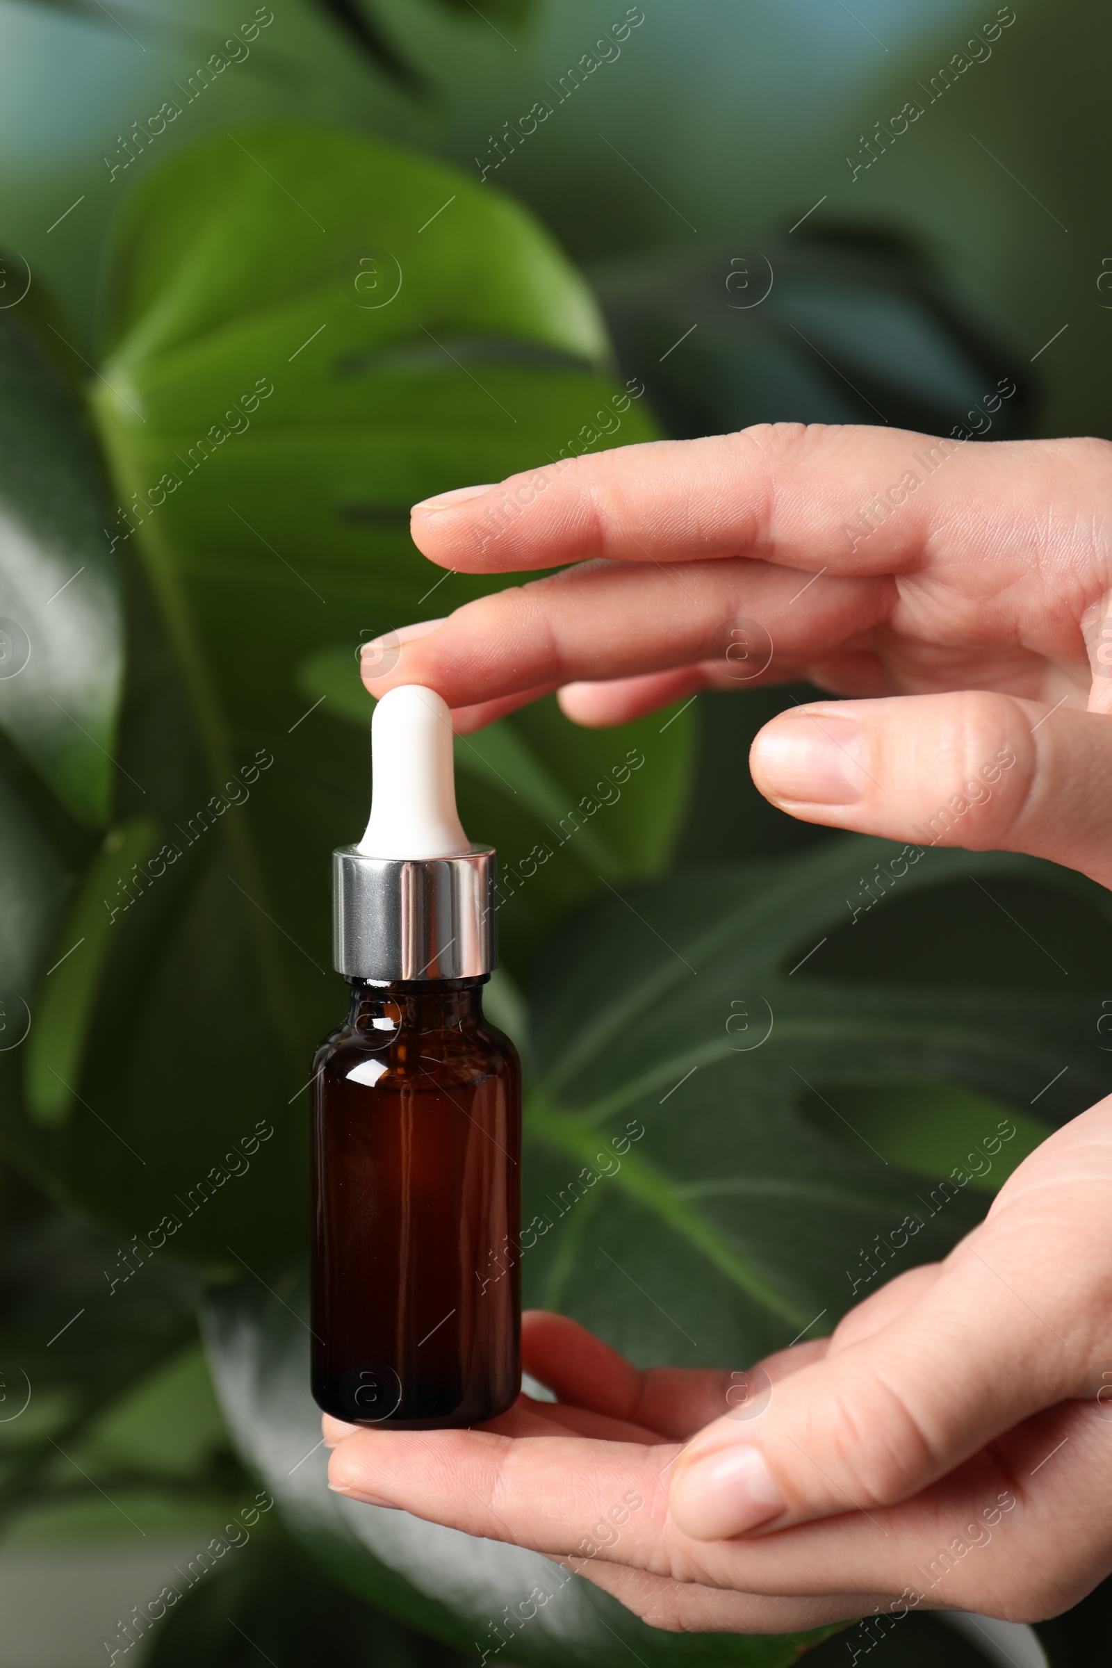
[[[333,852],[347,1021],[313,1059],[312,1389],[388,1429],[465,1426],[520,1388],[520,1063],[487,1024],[495,852],[455,809],[452,719],[392,689],[373,796]]]

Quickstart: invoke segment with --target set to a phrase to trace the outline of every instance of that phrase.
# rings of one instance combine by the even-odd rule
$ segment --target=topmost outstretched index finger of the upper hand
[[[994,547],[1000,517],[1009,539],[1022,539],[1017,507],[1069,490],[1070,445],[1084,492],[1084,442],[972,445],[902,429],[760,424],[447,492],[413,505],[410,530],[430,560],[462,572],[739,554],[810,570],[825,562],[839,574],[897,572],[945,529],[967,555]],[[1029,532],[1034,545],[1034,520]]]

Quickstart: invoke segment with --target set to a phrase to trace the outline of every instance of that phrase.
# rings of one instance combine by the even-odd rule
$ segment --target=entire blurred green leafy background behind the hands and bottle
[[[370,786],[353,652],[485,589],[428,600],[407,507],[655,434],[949,434],[1000,379],[987,439],[1109,434],[1112,22],[1092,0],[3,0],[0,27],[0,1665],[477,1658],[540,1561],[322,1500],[298,1319],[298,1086],[345,996],[327,856]],[[645,394],[605,432],[625,385]],[[617,734],[543,704],[457,749],[465,826],[507,862],[644,757],[507,902],[488,1001],[530,1073],[527,1216],[645,1123],[644,1173],[523,1264],[528,1301],[639,1363],[829,1329],[924,1183],[1014,1121],[925,1258],[1109,1088],[1104,894],[930,852],[850,934],[897,847],[794,824],[745,772],[800,694]],[[699,999],[607,887],[637,889]],[[725,1021],[762,1002],[797,1041],[739,1051]],[[175,1578],[202,1548],[208,1573]],[[1042,1645],[912,1618],[872,1658],[1099,1661],[1105,1603]],[[507,1655],[772,1668],[850,1638],[659,1635],[575,1581]]]

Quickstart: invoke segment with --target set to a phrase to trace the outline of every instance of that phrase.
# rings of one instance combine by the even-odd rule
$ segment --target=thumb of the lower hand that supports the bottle
[[[844,1348],[835,1333],[755,1418],[702,1429],[675,1461],[677,1528],[702,1541],[852,1511],[877,1521],[1062,1399],[1074,1386],[1039,1316],[1000,1301],[972,1243],[957,1256],[887,1326]]]

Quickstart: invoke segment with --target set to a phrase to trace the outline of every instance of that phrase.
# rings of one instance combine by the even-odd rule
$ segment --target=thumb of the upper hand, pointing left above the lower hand
[[[989,691],[822,701],[765,724],[750,769],[765,799],[807,822],[1024,851],[1112,886],[1105,714]]]

